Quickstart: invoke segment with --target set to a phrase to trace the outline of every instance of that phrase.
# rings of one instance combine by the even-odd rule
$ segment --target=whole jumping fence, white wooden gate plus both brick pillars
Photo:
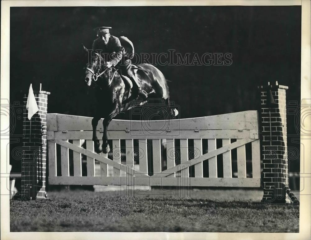
[[[262,187],[263,202],[295,200],[288,187],[288,87],[276,82],[258,89],[258,111],[112,120],[109,155],[94,152],[91,118],[47,114],[50,93],[35,91],[39,112],[28,120],[24,111],[21,198],[45,199],[48,180],[49,185]],[[97,131],[101,139],[101,123]]]

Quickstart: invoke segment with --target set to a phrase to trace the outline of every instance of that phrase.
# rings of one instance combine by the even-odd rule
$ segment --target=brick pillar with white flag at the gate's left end
[[[34,91],[39,111],[28,120],[24,95],[24,158],[22,159],[22,198],[45,199],[46,173],[46,114],[49,92]]]

